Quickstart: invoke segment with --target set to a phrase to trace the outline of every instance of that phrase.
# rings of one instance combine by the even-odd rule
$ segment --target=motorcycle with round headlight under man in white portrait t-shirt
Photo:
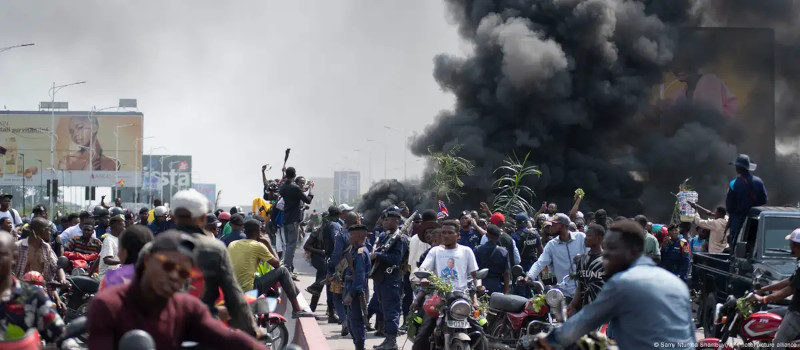
[[[488,269],[479,270],[476,279],[486,278],[488,273]],[[417,271],[414,275],[420,280],[431,277],[427,271]],[[480,315],[472,307],[476,292],[473,283],[469,282],[466,292],[447,292],[443,300],[437,294],[432,294],[426,301],[426,313],[437,317],[436,328],[429,340],[432,349],[469,350],[485,347],[486,338],[479,323]]]

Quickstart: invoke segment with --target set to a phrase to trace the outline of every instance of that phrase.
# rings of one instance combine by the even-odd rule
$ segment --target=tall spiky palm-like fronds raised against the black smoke
[[[533,190],[523,185],[525,177],[530,175],[541,176],[542,172],[535,165],[528,165],[530,152],[521,161],[516,155],[509,156],[504,161],[505,165],[495,169],[495,174],[500,174],[494,182],[497,195],[492,202],[492,209],[506,214],[525,212],[531,215],[536,212],[531,206],[535,194]]]

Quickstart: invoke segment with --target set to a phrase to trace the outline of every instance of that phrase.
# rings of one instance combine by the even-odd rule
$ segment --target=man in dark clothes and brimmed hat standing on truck
[[[730,164],[736,167],[736,174],[738,174],[728,184],[728,197],[725,199],[725,206],[730,216],[728,244],[733,246],[732,240],[742,229],[747,212],[752,207],[767,204],[768,197],[764,181],[750,173],[756,170],[756,163],[750,162],[748,155],[740,154]]]

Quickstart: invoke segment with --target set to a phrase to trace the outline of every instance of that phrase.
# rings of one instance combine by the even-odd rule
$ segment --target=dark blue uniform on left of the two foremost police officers
[[[351,269],[348,266],[344,270],[344,295],[352,298],[350,306],[346,307],[347,323],[356,349],[364,349],[367,330],[364,326],[365,320],[361,309],[361,297],[366,296],[367,292],[367,278],[370,270],[369,249],[364,246],[350,246],[349,249],[350,251],[347,254],[353,258],[353,268]]]

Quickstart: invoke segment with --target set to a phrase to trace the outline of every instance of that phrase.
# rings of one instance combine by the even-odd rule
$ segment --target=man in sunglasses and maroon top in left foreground
[[[141,329],[160,350],[181,349],[184,341],[212,349],[266,350],[212,317],[197,298],[179,293],[192,274],[197,246],[195,237],[176,230],[156,236],[136,262],[133,281],[106,289],[92,300],[89,348],[114,349],[126,332]]]

